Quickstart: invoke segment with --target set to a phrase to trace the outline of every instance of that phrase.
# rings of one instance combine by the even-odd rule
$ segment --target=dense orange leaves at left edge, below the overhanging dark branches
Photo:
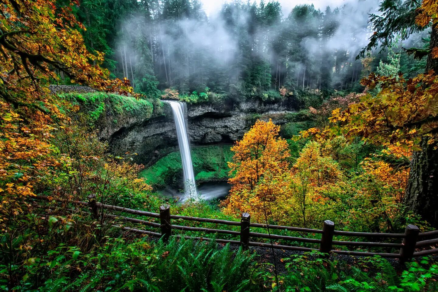
[[[0,101],[0,117],[0,210],[11,216],[21,211],[20,199],[34,195],[35,183],[60,162],[51,156],[50,138],[55,128],[45,114],[32,113],[32,124],[27,125]]]

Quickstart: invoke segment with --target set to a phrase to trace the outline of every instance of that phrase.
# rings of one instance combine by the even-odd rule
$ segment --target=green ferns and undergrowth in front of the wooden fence
[[[228,244],[220,246],[212,241],[176,237],[163,243],[121,234],[117,228],[108,229],[107,236],[99,237],[102,229],[90,228],[91,218],[82,218],[88,223],[75,222],[76,219],[49,217],[46,236],[32,249],[19,249],[23,241],[15,241],[14,249],[21,250],[15,255],[21,258],[17,264],[11,265],[8,261],[11,254],[1,250],[0,289],[16,292],[438,291],[438,265],[431,258],[407,263],[406,270],[400,271],[402,266],[396,264],[396,269],[378,256],[327,259],[311,252],[281,259],[285,271],[275,274],[272,264],[259,264],[255,253],[241,248],[231,250]],[[38,220],[46,224],[45,219]],[[22,235],[35,236],[27,232]],[[8,241],[7,234],[0,236],[2,244]],[[272,255],[268,258],[279,265],[278,258]]]

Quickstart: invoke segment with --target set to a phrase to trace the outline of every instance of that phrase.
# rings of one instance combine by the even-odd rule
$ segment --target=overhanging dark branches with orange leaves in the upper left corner
[[[60,6],[55,0],[2,1],[1,13],[7,17],[0,22],[0,86],[7,102],[43,102],[47,88],[40,85],[57,80],[56,72],[99,91],[133,93],[126,79],[108,79],[109,71],[99,67],[102,53],[88,52],[76,29],[85,28],[72,14],[74,5],[78,2]]]

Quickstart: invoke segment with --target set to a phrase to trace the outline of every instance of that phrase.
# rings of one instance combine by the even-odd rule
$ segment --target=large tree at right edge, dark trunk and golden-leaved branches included
[[[408,49],[416,58],[427,57],[424,74],[405,80],[397,77],[371,74],[362,80],[367,89],[377,85],[376,96],[365,94],[346,109],[335,109],[330,125],[323,130],[309,129],[303,133],[315,137],[344,135],[351,139],[361,137],[367,143],[414,150],[410,162],[410,176],[406,185],[404,204],[410,211],[422,216],[435,227],[438,213],[434,201],[438,189],[438,3],[434,0],[382,2],[384,17],[371,15],[376,32],[361,52],[378,46],[389,46],[401,30],[410,33],[431,27],[430,48]],[[403,12],[403,13],[401,13]],[[412,17],[407,18],[406,15]]]

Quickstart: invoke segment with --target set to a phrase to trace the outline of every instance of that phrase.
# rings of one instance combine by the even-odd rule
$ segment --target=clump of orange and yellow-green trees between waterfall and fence
[[[278,134],[279,126],[271,120],[258,120],[231,148],[232,188],[222,202],[223,212],[239,217],[251,211],[258,222],[305,227],[319,227],[327,216],[336,218],[334,205],[345,177],[333,157],[342,161],[346,147],[339,147],[339,139],[324,145],[311,141],[291,165],[288,144]]]

